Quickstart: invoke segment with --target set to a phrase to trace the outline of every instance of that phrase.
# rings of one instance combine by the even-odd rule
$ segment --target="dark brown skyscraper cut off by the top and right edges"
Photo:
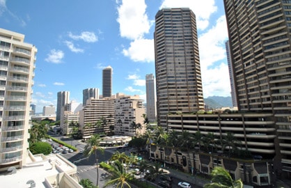
[[[224,0],[224,6],[238,109],[274,114],[274,168],[290,178],[291,1]]]

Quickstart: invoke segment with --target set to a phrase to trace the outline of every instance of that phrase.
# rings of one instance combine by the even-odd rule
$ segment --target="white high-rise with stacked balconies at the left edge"
[[[22,168],[29,155],[30,103],[37,49],[24,35],[0,29],[0,171]]]

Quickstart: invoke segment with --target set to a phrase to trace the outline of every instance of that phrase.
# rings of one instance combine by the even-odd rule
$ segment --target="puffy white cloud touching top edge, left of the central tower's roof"
[[[146,15],[145,0],[122,0],[117,3],[120,36],[130,40],[143,38],[143,34],[150,31],[153,23]]]

